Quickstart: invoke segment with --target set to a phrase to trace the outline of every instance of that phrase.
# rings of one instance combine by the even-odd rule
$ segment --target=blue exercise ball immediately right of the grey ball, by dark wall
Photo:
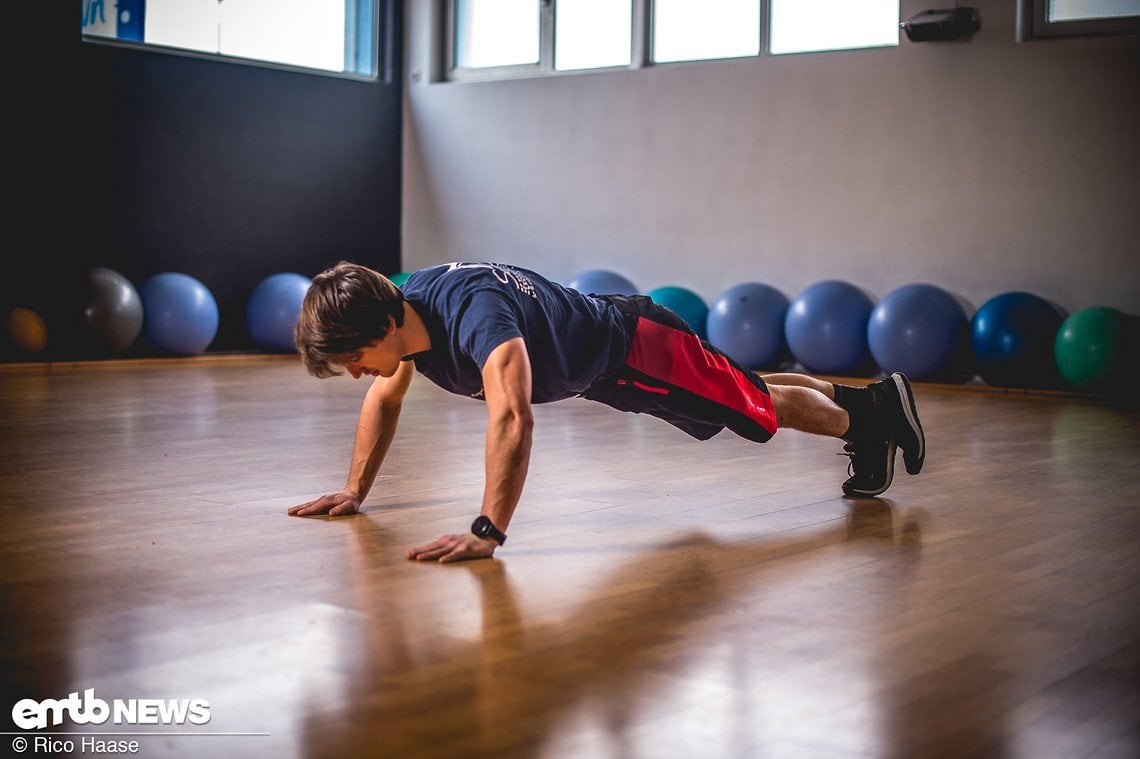
[[[205,351],[218,334],[218,302],[194,277],[166,271],[139,288],[146,336],[155,346],[180,356]]]

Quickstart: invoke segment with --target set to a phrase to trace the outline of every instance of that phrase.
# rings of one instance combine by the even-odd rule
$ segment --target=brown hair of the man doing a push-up
[[[404,293],[378,271],[341,261],[312,278],[293,340],[315,377],[341,374],[334,365],[388,335],[388,317],[404,326]]]

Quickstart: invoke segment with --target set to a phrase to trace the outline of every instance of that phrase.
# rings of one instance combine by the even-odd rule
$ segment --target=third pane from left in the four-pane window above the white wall
[[[653,60],[742,58],[760,54],[759,0],[657,0]]]

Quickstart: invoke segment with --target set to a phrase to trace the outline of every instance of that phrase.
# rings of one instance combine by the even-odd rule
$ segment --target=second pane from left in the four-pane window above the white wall
[[[557,0],[554,67],[628,66],[632,33],[632,0]]]

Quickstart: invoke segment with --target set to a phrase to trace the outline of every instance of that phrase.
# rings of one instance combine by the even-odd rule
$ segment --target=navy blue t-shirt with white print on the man
[[[401,289],[431,336],[431,350],[412,357],[416,370],[461,395],[483,398],[487,358],[514,337],[527,343],[535,403],[579,394],[629,349],[616,307],[527,269],[450,263],[413,274]]]

